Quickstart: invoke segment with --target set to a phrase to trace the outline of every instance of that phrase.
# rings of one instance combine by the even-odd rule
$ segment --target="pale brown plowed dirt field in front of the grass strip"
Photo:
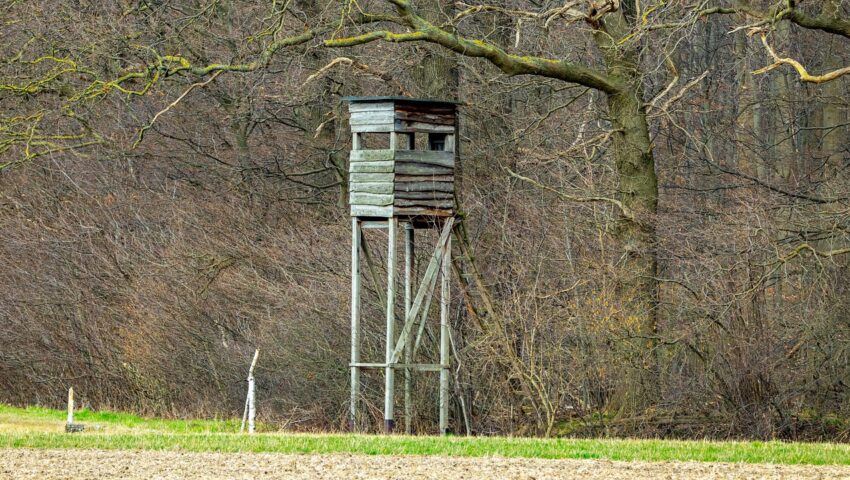
[[[2,479],[850,479],[850,467],[426,456],[0,450]]]

